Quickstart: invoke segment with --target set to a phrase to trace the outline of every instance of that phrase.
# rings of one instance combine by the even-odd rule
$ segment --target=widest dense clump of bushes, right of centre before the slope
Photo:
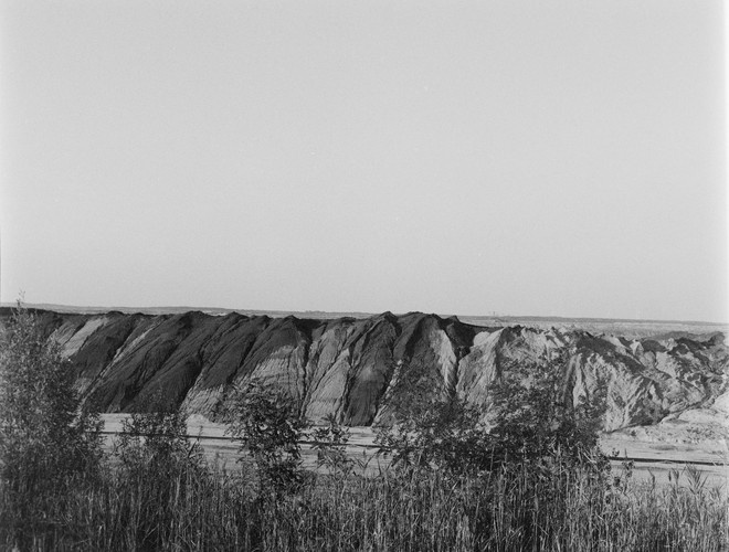
[[[549,470],[549,458],[585,465],[604,476],[606,457],[598,448],[604,400],[569,405],[563,394],[566,361],[509,367],[493,382],[492,415],[455,393],[433,393],[421,367],[402,367],[393,396],[395,424],[381,427],[380,454],[405,469],[444,469],[453,475],[492,471],[520,463]],[[594,399],[594,397],[593,397]],[[487,425],[490,417],[494,423]],[[545,460],[547,460],[545,463]]]

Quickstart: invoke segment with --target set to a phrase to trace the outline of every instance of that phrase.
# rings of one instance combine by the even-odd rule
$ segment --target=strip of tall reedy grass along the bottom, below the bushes
[[[296,492],[193,464],[75,477],[0,496],[0,545],[53,551],[720,551],[728,502],[698,473],[606,485],[559,457],[492,474],[309,474]],[[688,478],[680,485],[676,477]],[[20,502],[19,502],[20,501]],[[15,516],[23,506],[25,518]],[[723,546],[723,548],[722,548]]]

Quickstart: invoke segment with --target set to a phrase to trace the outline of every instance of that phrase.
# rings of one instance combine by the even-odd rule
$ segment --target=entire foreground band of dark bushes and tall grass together
[[[60,351],[19,309],[0,362],[0,546],[726,550],[726,497],[690,470],[687,486],[612,477],[598,412],[557,395],[552,364],[531,367],[527,384],[501,380],[494,404],[508,396],[511,407],[488,431],[447,390],[399,405],[380,435],[393,469],[376,477],[344,454],[336,420],[311,433],[287,396],[253,383],[229,413],[252,461],[223,471],[187,439],[179,412],[133,415],[103,455]],[[408,369],[398,383],[433,389],[424,373]],[[300,467],[305,434],[318,443],[317,474]]]

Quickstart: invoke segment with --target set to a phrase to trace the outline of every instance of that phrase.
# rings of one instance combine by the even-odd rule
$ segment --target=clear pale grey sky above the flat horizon
[[[729,321],[711,0],[0,2],[0,299]]]

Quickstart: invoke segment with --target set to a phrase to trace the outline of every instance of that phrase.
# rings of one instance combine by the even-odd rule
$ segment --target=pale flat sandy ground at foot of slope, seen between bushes
[[[105,432],[118,433],[122,429],[122,421],[126,414],[104,414],[102,416]],[[233,469],[236,460],[241,457],[239,445],[225,436],[226,426],[205,420],[203,416],[193,415],[188,420],[188,435],[200,440],[205,457],[211,461],[218,461],[221,466]],[[706,485],[721,489],[729,493],[729,454],[727,442],[718,439],[702,439],[699,442],[682,443],[674,432],[651,426],[647,428],[623,429],[601,437],[601,446],[605,453],[617,452],[620,457],[636,458],[633,468],[635,481],[651,481],[655,477],[658,485],[669,485],[675,478],[675,470],[684,471],[686,466],[696,467]],[[114,435],[105,435],[106,446],[110,448]],[[689,440],[696,440],[690,438]],[[360,463],[358,471],[377,474],[387,469],[387,458],[378,457],[373,446],[374,432],[370,427],[350,428],[350,440],[348,453],[350,457]],[[316,450],[309,445],[303,446],[304,465],[307,468],[316,467]],[[701,464],[691,464],[701,463]],[[623,463],[612,461],[613,474],[621,476]],[[679,477],[679,482],[688,484],[686,474]]]

